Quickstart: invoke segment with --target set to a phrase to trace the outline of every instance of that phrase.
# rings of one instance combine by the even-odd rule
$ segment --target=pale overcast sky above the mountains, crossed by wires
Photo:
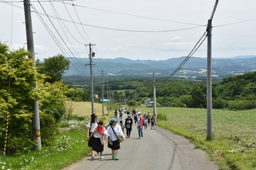
[[[11,2],[12,0],[0,0],[0,15],[2,16],[0,18],[2,23],[0,41],[7,41],[6,43],[15,50],[19,47],[27,49],[24,44],[26,43],[26,28],[22,23],[25,22],[24,10],[1,1]],[[13,4],[23,7],[23,3],[17,1]],[[40,60],[59,53],[65,53],[68,57],[74,55],[79,58],[87,58],[89,48],[86,48],[85,44],[89,44],[89,42],[96,44],[92,51],[98,58],[124,57],[132,60],[167,60],[187,56],[206,31],[205,26],[215,4],[215,0],[74,0],[64,1],[69,3],[65,5],[59,1],[41,2],[42,8],[38,2],[35,2],[37,0],[31,1],[32,7],[34,7],[31,9],[32,11],[44,13],[44,8],[49,16],[55,16],[57,13],[59,18],[73,20],[77,23],[50,18],[58,31],[57,33],[49,19],[41,15],[53,35],[64,47],[65,50],[61,51],[39,17],[32,12],[33,32],[35,32],[33,34],[34,47],[35,53],[37,53],[36,58]],[[72,3],[75,5],[70,5]],[[218,2],[212,21],[212,57],[256,55],[255,6],[255,0],[222,0]],[[54,13],[54,10],[57,12]],[[255,20],[219,26],[251,19]],[[83,25],[82,27],[79,20],[87,26]],[[198,25],[202,26],[198,27]],[[138,31],[198,28],[171,32],[130,32],[92,26]],[[207,57],[207,38],[193,56]]]

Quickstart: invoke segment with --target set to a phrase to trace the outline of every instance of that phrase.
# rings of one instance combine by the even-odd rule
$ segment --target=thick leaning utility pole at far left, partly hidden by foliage
[[[26,23],[26,35],[27,35],[27,49],[31,52],[31,56],[28,56],[33,60],[35,64],[34,57],[34,40],[33,40],[33,30],[32,30],[32,19],[30,11],[30,1],[24,0],[24,12],[25,12],[25,23]],[[36,66],[36,65],[35,65]],[[36,67],[35,67],[36,70]],[[37,82],[34,84],[34,88],[37,89]],[[33,118],[32,118],[32,136],[36,140],[36,144],[33,144],[33,149],[36,151],[41,150],[41,132],[40,132],[40,120],[39,120],[39,107],[38,100],[33,102]]]

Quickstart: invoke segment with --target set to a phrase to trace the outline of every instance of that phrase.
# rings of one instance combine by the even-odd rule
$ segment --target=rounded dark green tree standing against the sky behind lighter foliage
[[[54,83],[62,79],[65,70],[69,69],[69,63],[70,61],[65,59],[65,56],[58,54],[53,57],[45,58],[43,63],[37,62],[37,72],[50,76],[46,81]]]

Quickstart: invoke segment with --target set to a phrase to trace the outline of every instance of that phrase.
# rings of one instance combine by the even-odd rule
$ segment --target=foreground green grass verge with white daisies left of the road
[[[19,156],[6,156],[5,160],[0,157],[0,167],[6,170],[60,170],[90,152],[86,136],[87,130],[82,129],[60,131],[53,146],[42,147],[38,152],[24,151]]]

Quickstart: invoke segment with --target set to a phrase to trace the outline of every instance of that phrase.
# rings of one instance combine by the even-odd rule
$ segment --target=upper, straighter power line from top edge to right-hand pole
[[[62,3],[69,4],[69,3],[67,3],[67,2],[62,2]],[[108,11],[108,10],[101,10],[101,9],[98,9],[98,8],[91,8],[91,7],[86,7],[86,6],[82,6],[82,5],[76,5],[76,4],[74,4],[73,2],[72,2],[72,4],[69,4],[69,5],[79,6],[79,7],[84,7],[84,8],[89,8],[89,9],[98,10],[98,11],[105,11],[105,12],[111,12],[111,13],[118,13],[118,14],[122,14],[122,15],[133,16],[133,17],[140,17],[140,18],[147,18],[147,19],[155,19],[155,20],[159,20],[159,21],[175,22],[175,23],[181,23],[181,24],[190,24],[190,25],[194,25],[194,26],[206,26],[206,25],[200,25],[200,24],[191,24],[191,23],[185,23],[185,22],[170,21],[170,20],[166,20],[166,19],[158,19],[158,18],[151,18],[151,17],[143,17],[143,16],[131,15],[131,14],[127,14],[127,13],[113,12],[113,11]]]

